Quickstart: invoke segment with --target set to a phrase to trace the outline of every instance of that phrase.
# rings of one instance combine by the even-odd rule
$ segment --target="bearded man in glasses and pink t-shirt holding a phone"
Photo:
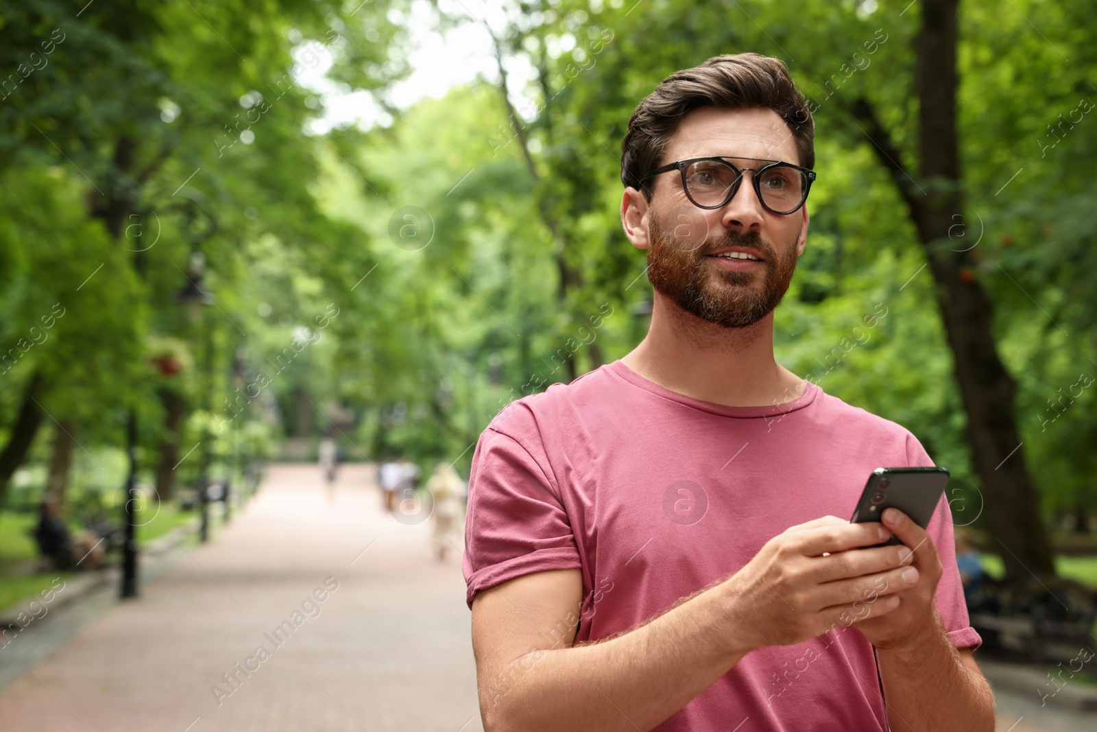
[[[679,71],[633,114],[621,219],[651,329],[510,405],[473,460],[486,730],[994,729],[947,503],[928,530],[845,520],[873,469],[932,461],[773,360],[813,136],[757,54]]]

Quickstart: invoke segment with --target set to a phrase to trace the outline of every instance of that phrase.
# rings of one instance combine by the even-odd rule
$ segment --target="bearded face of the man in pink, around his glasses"
[[[691,112],[660,165],[710,156],[800,164],[788,125],[764,109]],[[766,165],[732,162],[740,169]],[[724,206],[705,210],[686,198],[678,171],[661,173],[644,216],[652,285],[686,312],[725,328],[754,325],[777,307],[806,236],[806,206],[787,215],[767,211],[754,190],[753,176],[744,172],[738,191]]]

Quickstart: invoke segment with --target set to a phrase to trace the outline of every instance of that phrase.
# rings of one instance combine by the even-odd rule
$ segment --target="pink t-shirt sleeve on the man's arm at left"
[[[511,420],[508,431],[520,421]],[[470,608],[476,593],[508,579],[581,566],[563,502],[522,444],[539,442],[540,436],[535,429],[519,430],[530,435],[512,437],[488,427],[473,455],[462,562]],[[539,447],[530,444],[534,452],[541,452]]]

